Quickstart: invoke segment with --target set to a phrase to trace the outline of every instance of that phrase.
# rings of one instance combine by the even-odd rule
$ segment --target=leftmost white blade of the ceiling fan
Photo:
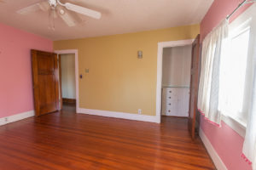
[[[38,10],[43,10],[43,11],[47,11],[49,9],[49,4],[44,1],[41,3],[34,3],[28,7],[25,8],[21,8],[20,10],[16,11],[18,14],[29,14],[32,12],[36,12]]]

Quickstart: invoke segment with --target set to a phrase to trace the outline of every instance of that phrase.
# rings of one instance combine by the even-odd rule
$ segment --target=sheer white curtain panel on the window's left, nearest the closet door
[[[228,32],[229,22],[224,20],[207,35],[202,43],[197,107],[210,122],[218,125],[221,122],[218,111],[220,56]]]

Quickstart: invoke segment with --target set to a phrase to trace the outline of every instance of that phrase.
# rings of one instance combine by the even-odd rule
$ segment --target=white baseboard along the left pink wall
[[[13,115],[13,116],[2,117],[2,118],[0,118],[0,126],[3,126],[10,122],[20,121],[22,119],[26,119],[31,116],[35,116],[35,111],[26,111],[26,112],[19,113],[19,114]]]

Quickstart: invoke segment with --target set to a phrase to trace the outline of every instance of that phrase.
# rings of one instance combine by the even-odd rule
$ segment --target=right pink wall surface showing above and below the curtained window
[[[217,26],[221,20],[230,14],[243,0],[215,0],[212,7],[207,12],[205,18],[201,21],[201,40],[207,36],[213,27]],[[248,5],[241,8],[230,21],[236,19]],[[205,121],[201,116],[201,129],[212,143],[218,156],[224,161],[225,166],[231,170],[251,170],[246,161],[241,158],[243,138],[231,127],[222,122],[222,127],[215,127]]]

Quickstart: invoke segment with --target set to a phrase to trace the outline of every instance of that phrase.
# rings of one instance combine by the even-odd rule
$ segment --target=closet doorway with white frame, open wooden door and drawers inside
[[[183,62],[180,62],[180,64],[177,64],[177,62],[175,62],[175,59],[179,59],[179,58],[176,58],[175,56],[177,54],[174,53],[173,57],[171,57],[174,60],[172,59],[171,61],[163,60],[164,58],[163,54],[168,54],[168,52],[165,52],[165,49],[168,51],[168,48],[169,48],[169,51],[170,50],[183,51],[183,53],[185,53],[186,50],[178,49],[178,48],[185,48],[185,47],[188,47],[190,49],[189,50],[190,59],[187,60],[187,62],[189,63],[190,61],[191,65],[186,66],[190,70],[189,76],[187,74],[185,74],[186,76],[182,76],[182,72],[186,72],[186,71],[180,71],[181,69],[180,66],[177,66],[177,65],[184,65]],[[164,114],[170,114],[170,116],[188,117],[188,125],[189,125],[188,130],[191,134],[192,139],[195,139],[195,117],[197,116],[196,103],[197,103],[197,90],[198,90],[197,85],[198,85],[198,77],[199,77],[199,59],[200,59],[199,47],[200,47],[199,35],[195,38],[195,40],[189,39],[189,40],[181,40],[181,41],[173,41],[173,42],[159,42],[158,56],[157,56],[157,84],[156,84],[157,122],[161,122],[162,112],[164,112]],[[167,78],[167,80],[166,80],[166,77],[163,78],[163,63],[165,65],[168,65],[168,62],[170,63],[170,65],[172,64],[174,65],[173,67],[169,65],[170,68],[167,68],[167,70],[169,69],[172,72],[174,72],[173,74],[175,75],[175,77],[173,77],[172,73],[170,73],[172,76],[171,80],[170,80],[170,77],[169,79]],[[186,63],[186,65],[188,63]],[[176,71],[176,70],[179,70],[179,71]],[[185,78],[186,80],[181,81],[181,77],[183,78],[186,77]],[[189,77],[190,77],[190,80],[189,80]],[[164,84],[163,82],[166,82],[166,84]],[[188,102],[188,91],[189,91],[189,102]],[[162,94],[165,94],[165,95],[162,95]],[[163,101],[163,97],[164,99],[166,99],[166,101]],[[189,106],[188,106],[188,103],[189,103]],[[181,112],[181,114],[178,113],[178,110]]]

